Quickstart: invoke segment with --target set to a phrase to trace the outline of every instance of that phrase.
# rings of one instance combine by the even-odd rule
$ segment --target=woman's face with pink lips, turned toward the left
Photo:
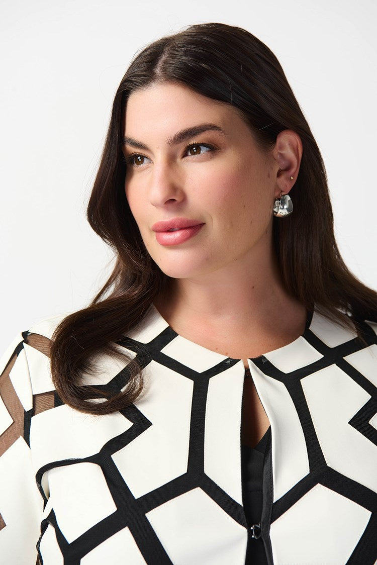
[[[252,265],[255,246],[267,253],[279,197],[276,163],[235,107],[179,84],[154,84],[129,97],[124,138],[127,201],[166,275],[197,277],[240,260]],[[154,231],[155,223],[174,219],[176,227],[181,219],[197,227]]]

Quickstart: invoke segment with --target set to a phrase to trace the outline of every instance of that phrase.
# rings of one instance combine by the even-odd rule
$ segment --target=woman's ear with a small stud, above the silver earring
[[[281,192],[288,194],[297,180],[302,157],[301,137],[292,129],[284,129],[276,137],[272,155],[276,165],[275,198],[279,198]]]

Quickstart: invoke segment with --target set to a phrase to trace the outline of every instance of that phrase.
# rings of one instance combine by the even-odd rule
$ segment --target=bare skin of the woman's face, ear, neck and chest
[[[222,131],[168,143],[208,123]],[[125,194],[146,249],[170,277],[167,296],[154,301],[170,326],[245,367],[300,336],[307,312],[285,290],[272,245],[272,207],[297,178],[300,137],[285,130],[261,149],[235,107],[174,83],[131,94],[124,135],[145,146],[124,145]],[[179,245],[159,244],[151,226],[176,217],[203,226]],[[243,402],[242,442],[253,447],[269,422],[251,379]]]

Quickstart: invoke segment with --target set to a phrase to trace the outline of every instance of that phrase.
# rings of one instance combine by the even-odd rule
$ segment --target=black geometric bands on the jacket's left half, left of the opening
[[[149,342],[146,348],[140,348],[140,344],[130,339],[124,339],[118,342],[118,345],[122,345],[127,347],[127,349],[134,351],[137,354],[138,362],[143,368],[146,367],[151,360],[154,360],[161,364],[161,366],[168,367],[172,371],[180,373],[188,379],[192,379],[194,384],[193,410],[190,424],[190,450],[187,473],[169,481],[160,488],[135,499],[122,475],[120,475],[116,464],[111,458],[112,454],[134,441],[138,436],[144,433],[150,425],[152,425],[151,422],[145,418],[139,410],[137,410],[135,405],[122,411],[125,418],[133,423],[132,427],[129,428],[127,432],[112,438],[109,442],[107,442],[107,444],[103,445],[98,454],[83,459],[76,459],[74,461],[55,461],[42,467],[37,472],[36,479],[38,488],[40,489],[46,504],[47,499],[41,487],[41,477],[46,471],[58,466],[77,464],[79,462],[96,463],[101,467],[111,496],[115,501],[117,510],[114,514],[103,519],[100,523],[85,532],[83,536],[78,537],[71,544],[67,544],[64,536],[59,531],[57,520],[53,511],[51,511],[44,521],[42,521],[42,535],[49,523],[53,525],[55,532],[57,532],[58,544],[62,554],[64,555],[64,559],[68,559],[68,563],[71,565],[78,565],[80,563],[80,559],[89,553],[90,550],[126,526],[130,529],[136,544],[141,549],[146,563],[161,563],[161,565],[171,564],[171,559],[168,557],[163,545],[158,540],[158,537],[156,536],[145,514],[155,507],[162,505],[164,502],[198,487],[206,492],[216,502],[216,504],[222,507],[227,514],[233,518],[233,520],[236,520],[237,523],[246,527],[245,515],[242,511],[242,506],[224,493],[223,490],[220,489],[219,486],[203,472],[204,420],[201,415],[205,414],[207,388],[210,378],[223,372],[224,368],[228,369],[229,363],[219,363],[217,366],[212,367],[210,370],[203,373],[188,370],[188,368],[183,366],[181,363],[161,353],[161,349],[163,349],[163,347],[170,343],[170,341],[175,337],[176,334],[172,331],[172,329],[167,328],[166,331],[159,334],[155,340]],[[231,362],[231,365],[233,364],[235,364],[235,361]],[[120,389],[123,388],[125,383],[127,383],[127,371],[123,370],[115,375],[108,384],[98,385],[97,388],[111,390],[112,392],[120,392]],[[42,558],[41,562],[44,563]]]

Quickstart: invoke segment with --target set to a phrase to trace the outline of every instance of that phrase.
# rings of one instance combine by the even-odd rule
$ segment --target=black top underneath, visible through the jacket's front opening
[[[242,501],[249,528],[261,522],[263,459],[270,436],[271,427],[255,447],[241,445]],[[249,535],[245,565],[267,565],[265,544],[261,537],[254,539]]]

